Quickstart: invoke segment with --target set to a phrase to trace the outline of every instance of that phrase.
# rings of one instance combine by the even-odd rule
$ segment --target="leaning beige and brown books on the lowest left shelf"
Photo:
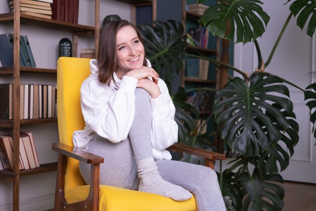
[[[32,132],[20,132],[20,170],[39,167]],[[0,159],[5,170],[13,171],[13,135],[0,135]]]

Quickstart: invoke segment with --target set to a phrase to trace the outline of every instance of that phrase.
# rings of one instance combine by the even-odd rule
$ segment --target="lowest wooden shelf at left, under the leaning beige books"
[[[28,176],[28,175],[35,175],[45,172],[52,172],[57,170],[57,162],[52,163],[45,163],[40,164],[40,167],[37,168],[31,168],[28,170],[21,170],[20,171],[20,177]],[[2,180],[12,180],[13,179],[13,172],[8,170],[1,170],[0,171],[0,179]]]

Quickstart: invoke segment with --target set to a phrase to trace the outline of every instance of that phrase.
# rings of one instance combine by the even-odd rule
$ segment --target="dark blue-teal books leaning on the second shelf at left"
[[[0,34],[0,61],[3,67],[13,67],[13,34]],[[26,35],[20,35],[20,66],[36,67]]]

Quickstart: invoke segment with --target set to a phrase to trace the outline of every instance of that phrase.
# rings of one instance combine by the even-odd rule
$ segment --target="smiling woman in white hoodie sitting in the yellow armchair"
[[[137,28],[110,21],[100,34],[98,60],[82,83],[85,129],[74,145],[104,157],[100,184],[160,194],[182,201],[194,194],[199,211],[226,210],[216,173],[171,160],[177,142],[175,107],[165,82],[145,59]],[[80,163],[88,184],[90,167]]]

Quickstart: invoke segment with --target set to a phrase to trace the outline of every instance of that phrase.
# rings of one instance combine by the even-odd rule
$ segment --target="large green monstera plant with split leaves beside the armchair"
[[[197,0],[203,3],[205,0]],[[281,0],[277,0],[281,1]],[[216,3],[216,1],[214,1]],[[291,4],[289,16],[273,47],[269,59],[262,63],[256,41],[269,24],[269,15],[258,0],[219,0],[209,7],[199,23],[216,36],[236,42],[254,41],[258,54],[258,69],[250,76],[231,65],[209,60],[218,67],[227,67],[241,73],[243,78],[232,78],[216,92],[214,115],[218,135],[226,147],[238,152],[231,167],[218,173],[222,194],[228,210],[282,210],[284,188],[279,174],[289,165],[289,159],[298,143],[299,126],[293,112],[293,103],[286,84],[295,86],[282,77],[265,72],[293,16],[297,25],[312,36],[316,27],[316,1],[288,0]],[[227,29],[230,23],[230,29]],[[182,68],[186,44],[184,31],[175,21],[155,21],[152,25],[140,25],[144,36],[147,58],[165,79],[170,94],[170,82]],[[297,87],[297,86],[295,86]],[[297,87],[301,91],[303,89]],[[306,88],[307,106],[316,107],[316,84]],[[198,110],[186,103],[186,91],[179,88],[172,99],[176,106],[176,121],[179,125],[179,141],[190,145],[206,145],[209,137],[196,130]],[[310,120],[316,121],[316,112]],[[316,132],[314,133],[316,137]]]

